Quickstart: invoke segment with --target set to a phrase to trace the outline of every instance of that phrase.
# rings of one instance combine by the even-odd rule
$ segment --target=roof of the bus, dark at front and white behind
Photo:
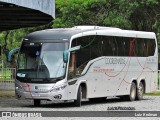
[[[88,35],[105,35],[105,36],[123,36],[133,38],[155,39],[154,32],[123,30],[112,27],[100,26],[75,26],[72,28],[56,28],[33,32],[25,37],[27,40],[70,40],[71,38],[88,36]]]

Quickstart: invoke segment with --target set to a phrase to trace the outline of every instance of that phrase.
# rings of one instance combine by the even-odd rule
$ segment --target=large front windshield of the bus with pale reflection
[[[68,43],[23,43],[18,57],[19,78],[63,78],[63,51]]]

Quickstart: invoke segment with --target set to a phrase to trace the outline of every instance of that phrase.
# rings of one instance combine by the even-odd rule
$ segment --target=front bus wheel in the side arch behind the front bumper
[[[78,93],[77,93],[77,100],[74,100],[75,106],[80,107],[81,100],[82,100],[82,87],[79,86]]]

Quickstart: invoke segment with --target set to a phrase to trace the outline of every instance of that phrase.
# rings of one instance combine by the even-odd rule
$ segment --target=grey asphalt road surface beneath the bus
[[[40,112],[41,111],[52,111],[52,112],[54,111],[55,112],[56,111],[56,114],[62,111],[65,111],[65,112],[66,111],[82,111],[82,112],[83,111],[85,112],[86,111],[91,111],[91,112],[98,111],[101,114],[105,111],[115,111],[115,113],[116,111],[133,111],[133,112],[134,111],[160,111],[159,103],[160,103],[160,97],[145,96],[143,100],[133,101],[133,102],[122,101],[119,98],[108,98],[105,101],[95,101],[95,102],[87,101],[87,102],[83,102],[81,107],[75,107],[72,102],[66,102],[66,103],[58,102],[57,103],[54,101],[53,102],[42,101],[41,106],[34,107],[32,100],[17,100],[14,97],[0,97],[0,111],[23,111],[23,112],[24,111],[36,111],[36,112],[39,112],[39,111]],[[62,114],[64,115],[65,112]],[[68,116],[65,118],[73,120],[73,117],[69,118]],[[64,119],[64,118],[59,117],[58,119]],[[87,119],[88,120],[89,117],[76,118],[76,119],[80,119],[80,120]],[[100,120],[101,119],[103,119],[103,117],[101,117]],[[104,119],[107,119],[107,118],[104,117]],[[134,118],[132,117],[130,119],[134,119]],[[155,119],[158,120],[159,118],[156,117]]]

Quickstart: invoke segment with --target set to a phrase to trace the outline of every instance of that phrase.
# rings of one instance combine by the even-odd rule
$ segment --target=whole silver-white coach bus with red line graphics
[[[115,96],[142,100],[157,88],[158,47],[153,32],[101,26],[36,31],[18,53],[17,99],[82,101]]]

